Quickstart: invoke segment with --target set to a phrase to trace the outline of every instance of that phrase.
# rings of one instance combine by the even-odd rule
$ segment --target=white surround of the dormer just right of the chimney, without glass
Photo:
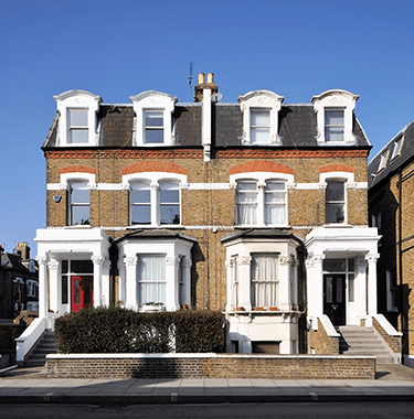
[[[237,100],[243,111],[243,144],[279,144],[278,138],[278,111],[280,110],[284,97],[276,95],[270,90],[254,90],[243,96],[238,96]],[[268,110],[269,111],[269,138],[265,142],[253,142],[251,135],[251,111]]]

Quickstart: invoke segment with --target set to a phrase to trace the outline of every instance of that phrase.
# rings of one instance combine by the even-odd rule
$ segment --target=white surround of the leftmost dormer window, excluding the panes
[[[96,112],[99,110],[102,97],[93,95],[85,90],[67,90],[60,95],[53,96],[57,104],[60,112],[59,119],[59,135],[57,146],[60,147],[85,147],[97,146],[98,136],[96,132],[97,118]],[[71,142],[70,138],[70,120],[68,115],[71,110],[86,110],[87,111],[87,128],[88,136],[87,142]]]

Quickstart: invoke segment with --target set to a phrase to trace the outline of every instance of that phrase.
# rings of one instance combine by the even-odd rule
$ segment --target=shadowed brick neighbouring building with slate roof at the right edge
[[[404,363],[411,367],[414,367],[413,170],[414,121],[411,121],[368,166],[370,223],[381,235],[378,308],[403,333]]]

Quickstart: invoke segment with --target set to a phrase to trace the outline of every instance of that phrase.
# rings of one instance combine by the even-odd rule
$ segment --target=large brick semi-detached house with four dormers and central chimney
[[[227,352],[296,354],[320,352],[318,330],[372,323],[379,236],[358,95],[226,104],[201,74],[191,104],[54,98],[39,330],[92,304],[187,303],[226,313]]]

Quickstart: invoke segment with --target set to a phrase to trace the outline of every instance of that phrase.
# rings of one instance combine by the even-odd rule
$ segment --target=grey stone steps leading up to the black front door
[[[339,326],[339,353],[344,355],[376,356],[378,364],[399,363],[397,354],[394,354],[385,341],[373,327]]]

